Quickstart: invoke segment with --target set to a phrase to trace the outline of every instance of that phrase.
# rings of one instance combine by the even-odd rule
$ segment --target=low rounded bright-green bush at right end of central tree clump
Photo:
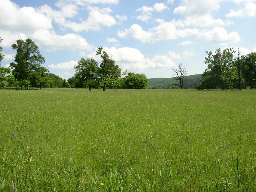
[[[131,73],[124,78],[126,89],[146,89],[148,87],[148,78],[145,74]]]

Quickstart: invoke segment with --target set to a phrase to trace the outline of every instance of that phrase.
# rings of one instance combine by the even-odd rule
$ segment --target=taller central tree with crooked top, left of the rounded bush
[[[96,55],[100,55],[102,58],[99,65],[98,77],[99,84],[103,91],[106,91],[106,87],[113,88],[117,85],[119,78],[121,77],[121,69],[118,65],[115,65],[115,61],[112,60],[109,54],[102,51],[102,47],[98,47]]]

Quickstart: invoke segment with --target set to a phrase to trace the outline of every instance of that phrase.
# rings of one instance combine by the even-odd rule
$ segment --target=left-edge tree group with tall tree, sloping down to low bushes
[[[0,67],[0,87],[70,87],[65,79],[41,66],[44,64],[44,57],[30,38],[25,41],[17,40],[11,48],[16,50],[16,55],[9,67]],[[2,50],[0,47],[0,62],[4,57]]]

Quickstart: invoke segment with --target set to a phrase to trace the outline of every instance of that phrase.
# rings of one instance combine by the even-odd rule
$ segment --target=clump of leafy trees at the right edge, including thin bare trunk
[[[240,55],[239,49],[234,58],[233,48],[217,49],[207,52],[207,68],[202,74],[196,89],[255,89],[256,88],[256,53]]]

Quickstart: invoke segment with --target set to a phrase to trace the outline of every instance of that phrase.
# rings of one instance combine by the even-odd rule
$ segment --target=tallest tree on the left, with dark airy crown
[[[37,73],[41,64],[44,64],[44,58],[37,45],[30,38],[26,41],[20,39],[16,42],[11,46],[17,53],[14,62],[10,64],[10,68],[13,69],[12,73],[23,89],[24,85],[28,87],[28,82],[31,82],[31,74]]]

